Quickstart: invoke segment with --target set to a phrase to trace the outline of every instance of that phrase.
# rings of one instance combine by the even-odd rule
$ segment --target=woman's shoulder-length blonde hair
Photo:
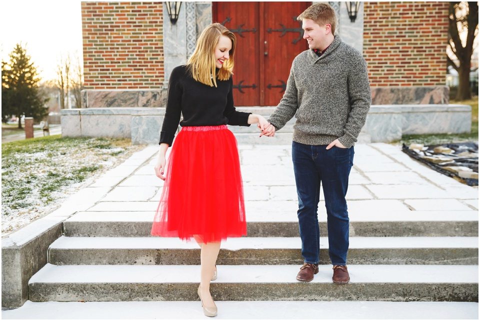
[[[221,35],[227,36],[231,40],[231,49],[228,51],[229,58],[223,62],[217,76],[218,80],[228,80],[233,69],[236,37],[233,32],[220,23],[212,23],[201,31],[195,50],[186,63],[193,79],[211,87],[216,87],[215,48]],[[213,78],[210,75],[213,75]]]

